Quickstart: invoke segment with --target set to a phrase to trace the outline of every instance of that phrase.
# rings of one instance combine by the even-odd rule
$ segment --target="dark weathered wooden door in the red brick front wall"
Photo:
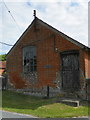
[[[80,88],[79,53],[76,51],[61,53],[62,89],[77,91]]]

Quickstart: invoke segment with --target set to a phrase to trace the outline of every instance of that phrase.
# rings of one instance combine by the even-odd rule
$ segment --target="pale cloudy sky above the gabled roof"
[[[61,32],[88,46],[88,0],[3,0],[0,2],[0,41],[14,45],[37,17]],[[0,44],[0,54],[11,46]]]

